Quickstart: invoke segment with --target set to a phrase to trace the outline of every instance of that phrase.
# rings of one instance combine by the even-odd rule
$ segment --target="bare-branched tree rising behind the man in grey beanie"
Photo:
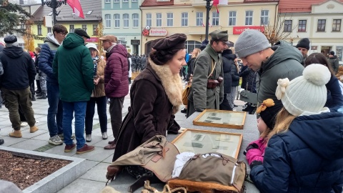
[[[292,19],[292,16],[290,17]],[[286,15],[282,16],[279,14],[277,16],[277,21],[275,21],[274,25],[271,25],[269,22],[268,24],[263,24],[263,21],[261,19],[262,27],[264,27],[264,35],[267,37],[268,41],[272,46],[276,44],[280,40],[286,40],[289,39],[290,42],[293,42],[292,37],[289,37],[289,35],[292,33],[294,29],[297,28],[297,25],[291,26],[290,29],[284,29],[285,21],[289,19],[286,19]]]

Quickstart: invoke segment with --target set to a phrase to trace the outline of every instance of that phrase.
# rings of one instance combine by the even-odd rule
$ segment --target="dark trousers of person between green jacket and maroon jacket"
[[[86,128],[86,134],[91,134],[93,129],[93,117],[95,112],[95,104],[98,107],[98,115],[100,122],[101,133],[107,132],[107,114],[106,114],[106,105],[107,98],[104,97],[91,97],[87,102],[86,107],[86,118],[84,119],[84,126]]]

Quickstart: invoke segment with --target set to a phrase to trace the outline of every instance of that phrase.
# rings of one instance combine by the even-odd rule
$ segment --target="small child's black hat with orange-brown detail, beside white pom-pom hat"
[[[256,112],[259,113],[269,129],[274,129],[277,113],[279,113],[282,107],[281,101],[277,100],[274,102],[273,99],[267,99],[262,102]]]

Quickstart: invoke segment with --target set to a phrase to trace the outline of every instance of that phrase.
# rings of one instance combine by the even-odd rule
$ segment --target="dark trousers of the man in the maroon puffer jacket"
[[[123,116],[121,114],[121,110],[123,109],[123,103],[124,97],[110,98],[109,114],[111,114],[111,126],[114,139],[116,139],[116,137],[119,134],[119,129],[123,119]]]

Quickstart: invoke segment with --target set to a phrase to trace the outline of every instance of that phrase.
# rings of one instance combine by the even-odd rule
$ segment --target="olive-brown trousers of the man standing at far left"
[[[9,120],[12,123],[12,128],[17,131],[20,130],[19,105],[24,112],[27,123],[33,127],[36,124],[36,119],[34,119],[34,110],[32,109],[30,87],[21,90],[1,88],[1,92],[6,102],[5,107],[9,109]]]

